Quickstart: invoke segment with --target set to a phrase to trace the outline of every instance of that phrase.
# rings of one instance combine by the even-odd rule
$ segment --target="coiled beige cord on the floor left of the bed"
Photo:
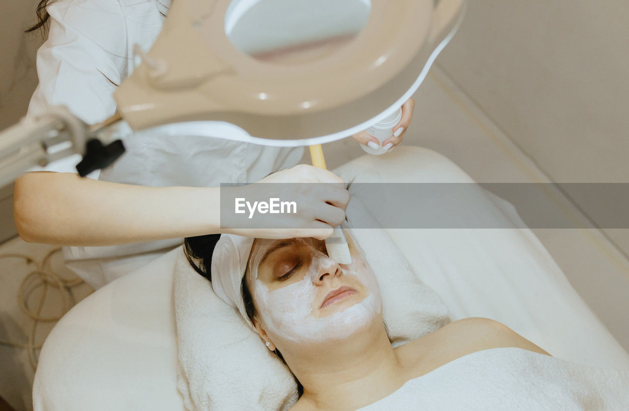
[[[59,251],[61,251],[60,248],[50,250],[46,256],[43,257],[41,262],[35,261],[26,254],[0,254],[0,260],[5,258],[20,258],[25,260],[26,264],[35,264],[35,269],[26,274],[26,277],[22,280],[21,284],[19,284],[17,295],[19,308],[32,320],[28,332],[28,339],[25,343],[21,344],[11,341],[0,341],[0,345],[28,351],[28,360],[33,371],[37,368],[36,351],[42,349],[42,344],[35,344],[35,334],[38,324],[40,324],[40,322],[57,322],[60,320],[75,304],[72,289],[84,283],[81,278],[66,279],[54,271],[51,259],[52,256]],[[42,288],[42,293],[36,303],[36,307],[33,309],[28,305],[28,298],[34,291],[38,290],[38,288]],[[58,290],[61,295],[61,313],[57,316],[43,317],[42,308],[46,301],[49,288]]]

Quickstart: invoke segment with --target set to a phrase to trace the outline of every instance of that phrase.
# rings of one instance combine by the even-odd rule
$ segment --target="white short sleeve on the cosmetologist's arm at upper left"
[[[116,111],[112,93],[128,62],[121,5],[117,0],[60,0],[47,10],[50,31],[37,52],[39,85],[28,115],[65,105],[86,123],[103,121]],[[75,155],[31,171],[76,172],[79,160]]]

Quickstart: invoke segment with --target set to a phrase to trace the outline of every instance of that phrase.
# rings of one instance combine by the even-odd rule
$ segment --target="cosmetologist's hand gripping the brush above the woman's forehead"
[[[333,227],[345,220],[345,209],[350,201],[349,191],[341,177],[306,164],[274,172],[257,183],[226,188],[225,198],[223,189],[221,204],[225,198],[241,198],[245,199],[241,203],[250,201],[250,204],[243,207],[247,215],[239,215],[237,219],[221,211],[222,232],[266,239],[326,239],[332,234]],[[254,215],[255,211],[251,212],[249,207],[253,201],[270,198],[294,201],[296,212],[274,215]],[[250,216],[255,218],[248,218]]]

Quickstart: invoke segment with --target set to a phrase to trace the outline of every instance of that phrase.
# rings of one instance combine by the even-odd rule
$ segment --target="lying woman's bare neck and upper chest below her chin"
[[[298,361],[285,358],[304,387],[300,401],[316,408],[359,408],[401,385],[402,367],[381,321],[343,341],[304,351],[292,356]]]

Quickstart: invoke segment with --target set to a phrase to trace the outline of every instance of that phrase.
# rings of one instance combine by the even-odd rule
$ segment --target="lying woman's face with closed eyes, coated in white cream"
[[[259,320],[272,339],[342,339],[381,312],[376,277],[351,241],[351,264],[317,239],[255,240],[248,275]]]

